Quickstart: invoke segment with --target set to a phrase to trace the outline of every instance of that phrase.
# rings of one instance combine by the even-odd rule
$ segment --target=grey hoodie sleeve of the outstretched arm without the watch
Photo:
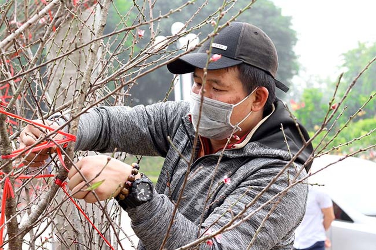
[[[75,150],[118,151],[137,155],[167,154],[167,137],[173,137],[180,118],[188,112],[186,102],[160,102],[92,108],[80,116]]]

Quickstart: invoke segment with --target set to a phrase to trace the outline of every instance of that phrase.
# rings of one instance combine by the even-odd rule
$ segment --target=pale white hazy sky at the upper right
[[[273,0],[291,16],[299,41],[295,47],[301,77],[337,78],[341,54],[360,42],[376,42],[376,1]],[[376,55],[374,55],[376,56]],[[376,69],[376,65],[373,65]]]

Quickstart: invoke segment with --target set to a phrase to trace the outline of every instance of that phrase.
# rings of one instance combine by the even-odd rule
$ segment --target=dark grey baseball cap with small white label
[[[167,65],[173,74],[186,74],[195,68],[203,69],[208,60],[210,39],[196,53],[186,54]],[[278,56],[273,41],[260,28],[248,24],[234,22],[224,27],[212,43],[211,54],[221,54],[221,59],[210,62],[208,70],[223,69],[240,63],[247,63],[270,74],[276,87],[288,91],[288,87],[276,79]]]

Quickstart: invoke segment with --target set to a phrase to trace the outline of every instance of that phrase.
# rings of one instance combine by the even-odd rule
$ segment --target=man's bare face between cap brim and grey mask
[[[230,104],[237,104],[243,100],[248,93],[244,90],[238,75],[237,68],[216,69],[207,71],[204,96],[217,101]],[[194,85],[192,92],[199,94],[203,85],[204,71],[196,68],[194,73]],[[231,123],[240,122],[251,111],[252,96],[247,98],[240,105],[236,106],[231,115]],[[242,127],[242,126],[240,126]]]

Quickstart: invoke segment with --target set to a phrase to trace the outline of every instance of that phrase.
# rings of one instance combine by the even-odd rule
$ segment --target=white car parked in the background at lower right
[[[313,161],[309,183],[323,185],[333,200],[335,220],[327,232],[331,250],[376,249],[376,163],[323,155]]]

